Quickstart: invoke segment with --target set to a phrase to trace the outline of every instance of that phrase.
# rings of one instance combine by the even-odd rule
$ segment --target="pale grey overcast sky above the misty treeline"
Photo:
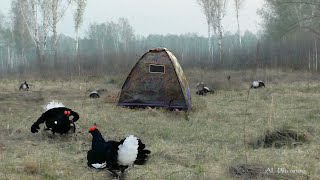
[[[227,8],[224,18],[224,30],[237,30],[233,0]],[[263,0],[245,0],[240,12],[242,32],[261,29],[261,19],[257,9]],[[0,0],[0,11],[7,15],[11,0]],[[68,14],[59,22],[58,31],[66,35],[74,35],[73,16],[70,8]],[[189,32],[207,36],[207,24],[196,0],[87,0],[84,14],[82,34],[93,22],[117,21],[125,17],[130,21],[136,34],[184,34]]]

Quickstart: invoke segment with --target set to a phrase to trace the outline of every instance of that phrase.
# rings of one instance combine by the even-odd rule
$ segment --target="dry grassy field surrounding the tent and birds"
[[[152,151],[146,165],[129,168],[127,179],[319,178],[319,74],[189,70],[186,76],[193,106],[188,113],[115,106],[125,75],[30,78],[31,90],[25,92],[18,90],[24,79],[0,80],[0,179],[111,178],[107,171],[86,166],[93,123],[106,140],[134,134]],[[253,79],[265,80],[266,88],[248,91]],[[214,87],[215,93],[196,96],[199,81]],[[92,100],[88,91],[94,89],[107,91]],[[30,132],[42,106],[51,100],[79,112],[76,134]],[[284,142],[287,145],[280,148],[252,146],[282,130],[296,132],[302,141]]]

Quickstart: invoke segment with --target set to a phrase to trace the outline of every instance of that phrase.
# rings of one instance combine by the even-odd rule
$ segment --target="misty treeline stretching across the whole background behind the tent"
[[[10,18],[0,12],[1,75],[76,76],[128,72],[137,59],[155,47],[171,50],[184,68],[318,71],[318,34],[311,31],[318,28],[318,23],[310,22],[318,17],[318,11],[312,9],[313,3],[266,1],[266,6],[260,10],[265,26],[262,32],[258,35],[244,32],[240,36],[241,45],[237,33],[225,32],[221,39],[222,48],[220,37],[211,36],[211,49],[208,49],[208,38],[197,33],[137,35],[126,18],[93,23],[83,37],[55,36],[32,24],[32,11],[23,12],[19,2],[13,1]],[[292,8],[292,5],[297,7]],[[312,18],[307,18],[309,7],[313,10]],[[297,12],[301,14],[298,16]],[[309,25],[309,29],[302,28],[303,25]],[[32,28],[34,31],[30,30]]]

